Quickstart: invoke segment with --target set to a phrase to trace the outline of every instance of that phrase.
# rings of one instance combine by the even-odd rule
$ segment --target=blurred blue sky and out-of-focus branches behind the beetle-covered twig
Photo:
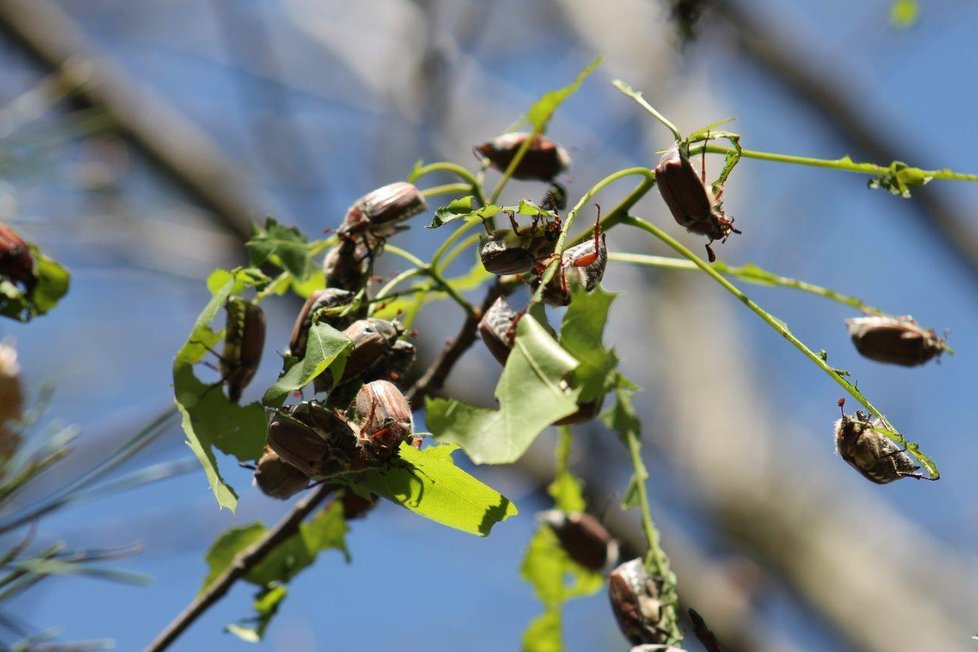
[[[572,202],[612,171],[654,165],[670,144],[615,78],[687,133],[735,117],[728,128],[750,149],[978,172],[968,82],[978,6],[922,4],[903,27],[895,7],[913,3],[718,0],[682,46],[671,5],[643,0],[0,0],[0,214],[72,272],[51,314],[0,324],[32,390],[53,384],[49,414],[82,428],[78,450],[33,498],[171,404],[172,357],[209,296],[204,279],[244,262],[252,222],[273,215],[316,237],[418,159],[475,168],[473,145],[507,131],[597,55],[604,65],[548,131],[573,158]],[[848,341],[852,310],[740,284],[851,371],[934,458],[940,482],[875,486],[843,463],[832,436],[839,387],[709,279],[611,266],[603,282],[622,293],[606,340],[644,388],[636,405],[653,516],[684,603],[724,650],[975,645],[968,370],[978,363],[978,303],[967,297],[978,284],[978,187],[934,182],[904,200],[866,180],[744,160],[725,193],[743,235],[715,248],[730,264],[950,329],[957,355],[916,369],[879,365]],[[514,184],[505,198],[541,190]],[[599,201],[613,206],[628,190],[616,185]],[[702,251],[658,193],[633,212]],[[430,253],[440,236],[417,228],[424,219],[396,244]],[[614,251],[669,253],[620,231],[609,235]],[[246,399],[274,380],[297,309],[268,302],[270,340]],[[426,311],[416,324],[421,368],[461,319],[452,305]],[[477,343],[446,391],[488,404],[497,373]],[[542,610],[518,577],[534,513],[549,506],[552,448],[541,440],[513,467],[473,470],[517,503],[517,518],[477,539],[382,505],[352,523],[351,564],[327,553],[292,582],[261,647],[517,649]],[[582,427],[574,469],[596,513],[640,545],[637,515],[617,507],[625,453],[601,425]],[[188,455],[171,428],[123,470]],[[151,575],[151,586],[61,578],[24,593],[4,618],[30,631],[57,626],[65,641],[146,645],[196,594],[223,530],[287,510],[250,487],[250,471],[222,464],[241,493],[234,515],[217,510],[191,467],[41,522],[39,546],[140,543],[115,566]],[[175,649],[247,649],[223,627],[249,615],[253,592],[236,586]],[[627,649],[603,594],[565,615],[568,650]]]

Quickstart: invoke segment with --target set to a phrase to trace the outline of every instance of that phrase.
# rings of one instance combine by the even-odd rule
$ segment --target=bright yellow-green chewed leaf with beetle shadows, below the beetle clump
[[[492,526],[517,514],[516,505],[498,491],[455,466],[457,446],[417,450],[402,443],[400,462],[371,469],[352,488],[387,498],[436,523],[487,536]]]

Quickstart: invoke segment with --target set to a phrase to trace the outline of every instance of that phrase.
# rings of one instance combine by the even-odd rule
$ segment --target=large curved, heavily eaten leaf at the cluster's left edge
[[[237,505],[237,494],[221,477],[213,448],[240,461],[257,459],[265,441],[265,411],[257,403],[246,406],[232,403],[220,387],[197,378],[193,365],[206,355],[204,345],[212,346],[216,342],[210,323],[228,296],[241,293],[260,276],[250,269],[213,272],[207,279],[213,296],[173,360],[173,395],[183,417],[187,445],[204,468],[218,504],[232,512]]]

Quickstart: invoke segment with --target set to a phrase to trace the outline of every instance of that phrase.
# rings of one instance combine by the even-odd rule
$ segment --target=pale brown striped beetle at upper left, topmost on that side
[[[390,183],[355,201],[347,210],[337,234],[343,239],[358,235],[385,238],[393,234],[401,222],[427,208],[424,196],[414,184],[406,181]]]

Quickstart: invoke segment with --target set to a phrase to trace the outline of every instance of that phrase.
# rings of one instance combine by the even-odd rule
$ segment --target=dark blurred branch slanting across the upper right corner
[[[824,61],[824,57],[802,52],[797,41],[785,42],[775,29],[769,28],[738,0],[721,0],[715,10],[726,20],[741,52],[820,114],[825,120],[823,124],[852,143],[860,157],[880,163],[912,160],[910,152],[901,151],[878,135],[878,129],[868,118],[873,113],[853,102],[842,85],[827,76],[837,76],[837,67],[823,67],[831,71],[823,74],[805,63]],[[927,163],[930,162],[924,162]],[[972,277],[978,278],[978,237],[959,217],[967,213],[932,188],[916,189],[910,206],[915,209],[913,214],[926,223],[926,232],[932,233]]]

